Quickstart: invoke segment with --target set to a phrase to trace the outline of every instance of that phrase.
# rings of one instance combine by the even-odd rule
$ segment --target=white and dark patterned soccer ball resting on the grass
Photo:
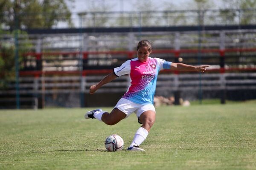
[[[106,138],[105,147],[110,152],[122,150],[124,147],[124,141],[119,135],[111,135]]]

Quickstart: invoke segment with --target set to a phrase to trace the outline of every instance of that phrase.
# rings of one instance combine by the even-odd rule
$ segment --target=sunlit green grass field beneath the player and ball
[[[135,114],[108,126],[85,120],[90,109],[0,110],[0,170],[256,169],[256,102],[157,108],[145,152],[125,150],[140,127]],[[111,134],[124,150],[105,150]]]

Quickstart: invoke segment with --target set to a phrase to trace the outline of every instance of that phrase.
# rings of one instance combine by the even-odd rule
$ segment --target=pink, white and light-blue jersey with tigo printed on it
[[[120,67],[114,68],[114,74],[120,77],[128,74],[131,85],[122,98],[139,104],[154,103],[157,75],[160,70],[170,68],[172,62],[151,58],[140,62],[138,58],[127,60]]]

